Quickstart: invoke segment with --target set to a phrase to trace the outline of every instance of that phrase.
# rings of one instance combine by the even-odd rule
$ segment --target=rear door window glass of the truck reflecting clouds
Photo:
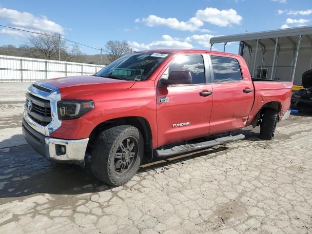
[[[215,83],[235,82],[242,80],[238,61],[233,58],[211,56]]]

